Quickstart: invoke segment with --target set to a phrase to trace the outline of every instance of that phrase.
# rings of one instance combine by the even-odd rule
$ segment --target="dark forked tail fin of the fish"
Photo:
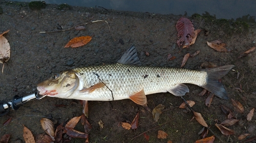
[[[221,99],[228,99],[226,90],[222,83],[218,81],[218,79],[221,79],[223,76],[225,76],[233,67],[234,65],[226,65],[222,67],[206,69],[205,71],[208,75],[207,83],[206,85],[203,85],[202,88],[211,93],[214,93]]]

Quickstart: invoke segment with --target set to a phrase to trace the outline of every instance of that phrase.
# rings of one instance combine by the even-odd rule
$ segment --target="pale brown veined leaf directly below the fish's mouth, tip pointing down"
[[[54,141],[54,125],[53,122],[47,118],[42,118],[40,120],[42,129],[44,129],[44,131],[51,136],[52,140]]]

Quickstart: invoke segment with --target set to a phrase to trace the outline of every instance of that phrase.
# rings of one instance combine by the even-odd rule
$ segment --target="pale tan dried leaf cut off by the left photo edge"
[[[10,30],[0,34],[0,63],[5,63],[10,59],[11,56],[11,47],[8,40],[3,36],[5,33]]]

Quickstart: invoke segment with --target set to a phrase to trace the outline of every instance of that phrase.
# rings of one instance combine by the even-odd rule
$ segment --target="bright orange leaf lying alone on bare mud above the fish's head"
[[[91,36],[76,37],[76,38],[71,39],[69,41],[69,43],[67,45],[65,45],[64,47],[65,48],[68,48],[68,47],[72,47],[72,48],[81,47],[83,45],[86,45],[91,40],[92,40]]]

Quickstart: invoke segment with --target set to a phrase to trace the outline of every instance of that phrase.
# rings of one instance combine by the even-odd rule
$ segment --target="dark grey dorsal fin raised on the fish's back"
[[[137,65],[141,66],[137,50],[135,46],[131,46],[121,57],[120,60],[117,61],[119,64],[125,65]]]

